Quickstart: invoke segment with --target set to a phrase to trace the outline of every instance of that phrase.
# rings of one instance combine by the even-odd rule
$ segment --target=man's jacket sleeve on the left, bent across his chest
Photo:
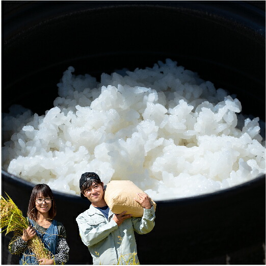
[[[83,215],[79,215],[76,218],[76,222],[82,242],[87,247],[97,244],[118,228],[117,223],[113,219],[107,224],[100,224],[93,227]]]

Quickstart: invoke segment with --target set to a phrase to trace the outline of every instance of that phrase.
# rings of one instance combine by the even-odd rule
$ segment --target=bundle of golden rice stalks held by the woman
[[[1,222],[0,227],[6,227],[2,229],[1,233],[6,231],[6,234],[13,231],[14,236],[12,242],[19,236],[22,235],[23,229],[28,228],[29,221],[27,218],[23,217],[22,211],[17,207],[13,200],[7,195],[7,199],[1,196],[0,199],[0,214]],[[40,258],[52,258],[52,254],[49,250],[44,247],[41,238],[35,235],[31,240],[28,241],[28,248],[35,254],[36,259]]]

